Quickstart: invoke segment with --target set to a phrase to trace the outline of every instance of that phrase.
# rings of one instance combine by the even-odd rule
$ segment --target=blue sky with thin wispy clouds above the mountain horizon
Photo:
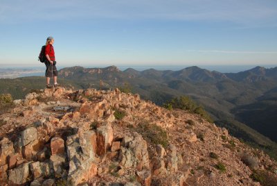
[[[1,0],[0,65],[277,65],[276,0]]]

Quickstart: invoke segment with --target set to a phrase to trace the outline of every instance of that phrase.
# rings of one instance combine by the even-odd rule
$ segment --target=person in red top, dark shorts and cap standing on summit
[[[60,84],[57,83],[57,68],[56,68],[56,61],[55,61],[55,51],[53,47],[54,38],[47,37],[46,44],[45,44],[45,56],[46,61],[44,64],[46,65],[46,87],[51,88],[50,85],[50,78],[53,77],[54,87],[58,87]]]

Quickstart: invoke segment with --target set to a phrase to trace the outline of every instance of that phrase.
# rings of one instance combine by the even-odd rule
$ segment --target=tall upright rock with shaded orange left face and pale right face
[[[113,128],[111,123],[105,122],[102,126],[97,128],[97,154],[104,155],[111,147],[111,142],[114,139]]]

